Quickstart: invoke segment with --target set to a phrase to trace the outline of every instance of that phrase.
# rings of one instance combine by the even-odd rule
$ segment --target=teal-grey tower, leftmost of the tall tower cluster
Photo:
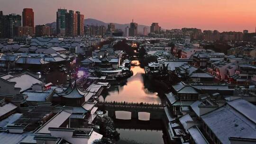
[[[58,9],[56,13],[56,34],[65,35],[65,14],[67,9]]]

